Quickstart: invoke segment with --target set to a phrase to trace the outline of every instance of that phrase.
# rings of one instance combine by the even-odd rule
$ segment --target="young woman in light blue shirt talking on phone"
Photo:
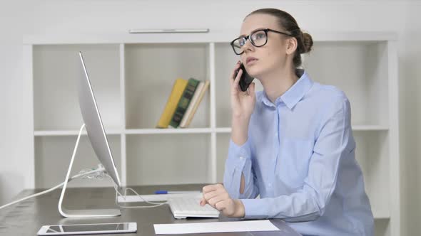
[[[228,159],[223,184],[203,187],[201,205],[229,217],[281,218],[303,235],[373,235],[348,98],[299,69],[311,36],[285,11],[259,9],[231,45],[240,61],[229,79]],[[254,83],[240,90],[240,62],[262,92]]]

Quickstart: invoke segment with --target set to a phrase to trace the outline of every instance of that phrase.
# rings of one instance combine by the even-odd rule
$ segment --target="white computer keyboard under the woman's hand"
[[[219,211],[210,205],[201,206],[201,198],[194,197],[169,197],[168,205],[176,219],[185,219],[188,217],[198,218],[218,218]]]

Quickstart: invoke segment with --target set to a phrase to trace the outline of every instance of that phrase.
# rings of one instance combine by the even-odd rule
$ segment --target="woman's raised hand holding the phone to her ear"
[[[241,91],[240,81],[243,70],[240,69],[240,61],[235,64],[235,68],[230,77],[230,93],[231,93],[231,109],[233,112],[233,119],[241,119],[248,121],[253,113],[255,106],[255,83],[252,82],[248,87],[248,91]],[[238,71],[235,77],[235,71]]]

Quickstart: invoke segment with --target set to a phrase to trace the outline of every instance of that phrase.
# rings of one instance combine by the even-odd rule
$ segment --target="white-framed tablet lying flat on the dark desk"
[[[97,235],[137,232],[136,222],[99,223],[83,225],[44,225],[37,235]]]

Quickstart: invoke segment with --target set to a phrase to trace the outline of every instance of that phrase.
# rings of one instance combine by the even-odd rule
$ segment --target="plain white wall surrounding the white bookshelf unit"
[[[395,31],[400,67],[401,235],[421,232],[421,4],[417,1],[129,1],[40,0],[1,7],[0,204],[24,188],[32,139],[24,117],[30,100],[20,90],[21,37],[126,32],[129,28],[232,28],[254,9],[290,12],[312,31]],[[10,9],[9,9],[10,8]],[[6,20],[3,18],[6,17]],[[13,25],[10,23],[13,22]],[[6,38],[6,42],[5,39]],[[31,180],[29,180],[31,181]]]

